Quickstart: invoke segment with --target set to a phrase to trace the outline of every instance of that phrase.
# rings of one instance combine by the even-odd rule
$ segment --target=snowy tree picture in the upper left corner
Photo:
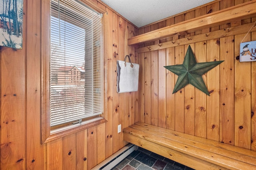
[[[22,49],[23,0],[0,0],[0,46]]]

